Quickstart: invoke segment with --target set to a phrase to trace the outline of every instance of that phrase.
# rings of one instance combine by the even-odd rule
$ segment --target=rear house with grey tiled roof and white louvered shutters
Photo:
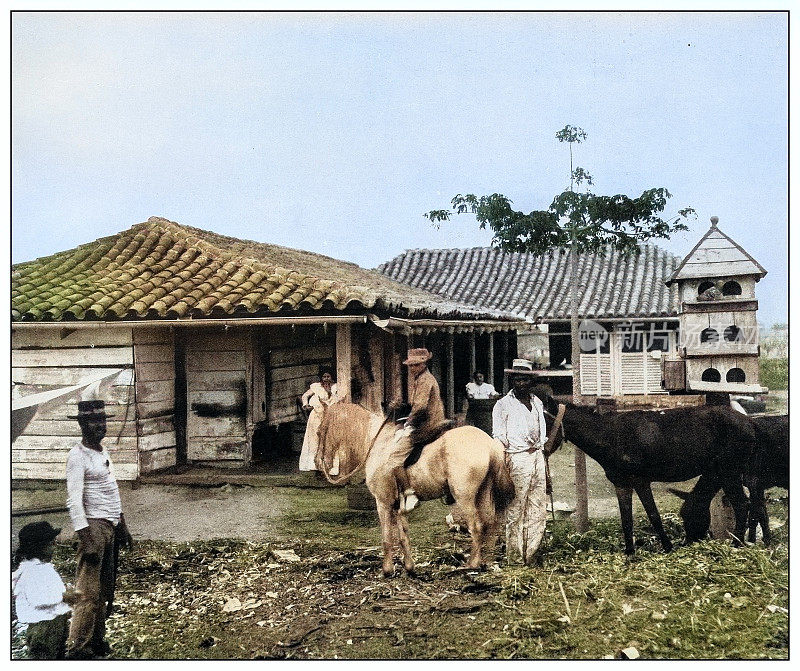
[[[638,256],[581,255],[578,312],[588,327],[581,339],[584,396],[666,393],[662,358],[677,356],[679,326],[678,289],[667,280],[679,263],[650,244]],[[572,393],[566,254],[413,249],[378,270],[448,300],[524,316],[530,324],[517,334],[520,356],[534,361],[557,393]]]

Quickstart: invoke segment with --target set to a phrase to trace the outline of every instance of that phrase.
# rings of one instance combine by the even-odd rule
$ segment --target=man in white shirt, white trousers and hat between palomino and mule
[[[492,436],[506,452],[517,495],[506,511],[506,553],[532,563],[547,523],[547,476],[544,443],[547,427],[542,402],[531,393],[533,364],[514,359],[511,390],[492,411]]]

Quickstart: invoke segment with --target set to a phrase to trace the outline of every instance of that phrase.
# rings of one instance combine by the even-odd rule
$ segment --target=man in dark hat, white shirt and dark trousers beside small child
[[[122,515],[111,458],[101,444],[106,435],[104,401],[79,401],[81,442],[67,456],[67,507],[78,534],[77,601],[67,640],[68,659],[105,657],[105,640],[117,580],[119,547],[132,547]]]

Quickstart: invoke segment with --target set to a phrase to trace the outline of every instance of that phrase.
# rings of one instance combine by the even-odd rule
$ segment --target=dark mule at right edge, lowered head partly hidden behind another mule
[[[747,540],[755,542],[756,528],[760,525],[764,544],[769,545],[772,536],[764,492],[770,487],[789,489],[789,417],[768,415],[748,419],[756,431],[757,447],[747,463],[742,480],[750,492]],[[716,477],[707,474],[697,481],[691,492],[669,490],[684,501],[680,515],[688,542],[705,538],[708,533],[711,500],[721,486]]]

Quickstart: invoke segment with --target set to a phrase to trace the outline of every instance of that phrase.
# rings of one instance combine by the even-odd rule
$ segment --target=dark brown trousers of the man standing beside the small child
[[[78,543],[75,591],[78,601],[72,610],[67,641],[68,656],[100,654],[106,635],[106,616],[114,600],[117,580],[117,549],[114,525],[108,520],[90,519],[91,543]]]

